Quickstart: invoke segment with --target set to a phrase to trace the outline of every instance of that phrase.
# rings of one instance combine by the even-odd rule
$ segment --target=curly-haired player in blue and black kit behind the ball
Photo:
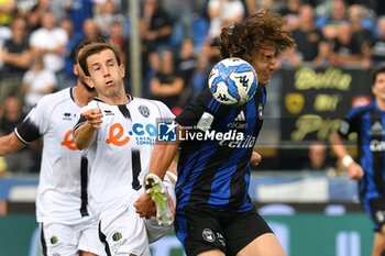
[[[263,123],[266,85],[275,70],[276,55],[295,47],[284,25],[278,14],[261,11],[224,27],[221,56],[240,57],[254,67],[258,78],[254,98],[243,105],[224,105],[207,87],[175,118],[177,134],[232,131],[241,133],[242,140],[179,140],[155,146],[150,174],[161,179],[180,146],[174,226],[188,256],[285,255],[249,197],[250,164],[258,158],[253,147]],[[151,190],[153,180],[145,178],[145,182]],[[143,193],[135,207],[147,216],[150,197]]]

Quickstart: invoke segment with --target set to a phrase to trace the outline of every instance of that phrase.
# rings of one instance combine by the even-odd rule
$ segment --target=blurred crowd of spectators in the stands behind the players
[[[385,1],[381,0],[142,0],[142,96],[174,113],[204,87],[219,59],[223,25],[258,9],[287,19],[297,49],[279,54],[276,67],[354,66],[385,62]],[[130,70],[130,16],[125,0],[0,1],[0,135],[13,131],[46,93],[75,86],[75,48],[105,37],[120,46]],[[130,74],[125,85],[129,85]],[[369,86],[369,85],[367,85]],[[0,172],[37,172],[41,145],[0,158]],[[21,160],[22,159],[22,160]]]

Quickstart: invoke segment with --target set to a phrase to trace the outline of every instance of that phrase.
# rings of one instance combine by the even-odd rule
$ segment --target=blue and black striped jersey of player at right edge
[[[359,181],[361,198],[385,194],[385,112],[375,102],[352,109],[341,122],[339,134],[358,134],[359,164],[364,170]]]

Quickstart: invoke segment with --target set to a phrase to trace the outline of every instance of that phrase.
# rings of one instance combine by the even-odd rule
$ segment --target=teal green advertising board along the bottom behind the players
[[[266,216],[287,256],[367,256],[372,224],[364,213]],[[0,218],[0,256],[36,256],[37,224],[33,215]],[[35,236],[34,236],[35,235]],[[182,256],[179,242],[166,236],[152,245],[153,256]]]

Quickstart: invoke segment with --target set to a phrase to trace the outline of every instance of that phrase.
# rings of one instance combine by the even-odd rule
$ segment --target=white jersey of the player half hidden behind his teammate
[[[80,107],[72,88],[42,98],[15,134],[25,144],[43,136],[43,156],[36,198],[37,222],[78,224],[87,211],[87,159],[73,141]]]

